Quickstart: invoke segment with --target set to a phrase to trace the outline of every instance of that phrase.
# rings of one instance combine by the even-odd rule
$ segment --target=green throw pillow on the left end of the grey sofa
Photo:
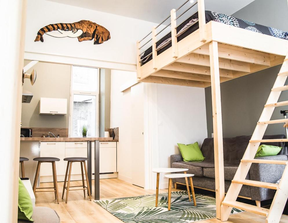
[[[180,152],[182,154],[183,160],[185,162],[189,161],[203,161],[204,157],[203,154],[199,148],[198,142],[193,143],[193,144],[180,144],[177,143],[180,149]]]

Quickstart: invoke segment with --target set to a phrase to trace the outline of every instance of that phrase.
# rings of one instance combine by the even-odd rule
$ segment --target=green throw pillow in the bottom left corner
[[[19,178],[19,189],[18,189],[18,219],[28,220],[33,222],[32,219],[33,206],[31,197],[25,188],[23,182]]]

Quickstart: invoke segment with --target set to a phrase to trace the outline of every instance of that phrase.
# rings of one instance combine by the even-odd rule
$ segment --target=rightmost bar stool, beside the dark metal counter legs
[[[79,188],[79,189],[72,189],[72,190],[83,190],[84,192],[84,197],[85,197],[85,190],[88,190],[88,195],[91,201],[91,194],[90,194],[90,186],[88,183],[88,174],[87,174],[87,169],[86,169],[86,163],[85,161],[88,160],[88,158],[84,158],[84,157],[67,157],[64,159],[65,161],[68,161],[67,163],[67,168],[66,168],[66,174],[65,174],[65,180],[64,180],[64,186],[63,186],[63,193],[62,193],[62,199],[64,197],[64,191],[66,189],[66,201],[65,203],[67,203],[68,200],[68,193],[69,193],[69,189],[70,187],[81,187],[81,186],[70,186],[70,177],[71,177],[71,169],[72,169],[72,163],[74,162],[80,162],[81,165],[81,174],[82,174],[82,186],[83,188]],[[85,186],[85,182],[84,182],[84,174],[83,174],[83,166],[84,166],[84,170],[85,170],[85,176],[86,176],[86,183],[87,183],[87,187]],[[67,174],[68,174],[68,170],[69,170],[69,175],[68,175],[68,183],[67,183],[67,187],[66,187],[66,180],[67,180]]]

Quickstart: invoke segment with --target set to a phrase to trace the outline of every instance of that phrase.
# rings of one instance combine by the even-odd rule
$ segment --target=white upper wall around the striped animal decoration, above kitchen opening
[[[25,52],[63,55],[124,64],[136,64],[136,41],[148,34],[154,23],[45,0],[29,0]],[[56,38],[44,34],[44,42],[34,42],[40,28],[54,23],[90,20],[110,31],[111,39],[94,45],[94,40]],[[57,32],[57,31],[54,31]],[[31,58],[30,58],[31,59]]]

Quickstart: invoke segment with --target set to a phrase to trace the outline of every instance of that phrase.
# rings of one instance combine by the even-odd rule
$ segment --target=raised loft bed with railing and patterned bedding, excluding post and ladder
[[[205,13],[201,2],[193,3],[184,11],[187,12],[198,3],[198,11],[179,26],[176,22],[184,13],[176,17],[176,12],[185,3],[171,10],[169,17],[137,42],[138,81],[191,87],[211,86],[209,43],[212,41],[218,42],[220,82],[282,64],[288,50],[288,33],[216,12]],[[156,29],[162,28],[161,25],[169,18],[171,23],[164,28],[171,25],[171,31],[156,41],[164,28],[158,33]],[[148,41],[147,37],[150,37]],[[168,38],[164,46],[158,47]],[[151,41],[152,46],[141,53]]]

